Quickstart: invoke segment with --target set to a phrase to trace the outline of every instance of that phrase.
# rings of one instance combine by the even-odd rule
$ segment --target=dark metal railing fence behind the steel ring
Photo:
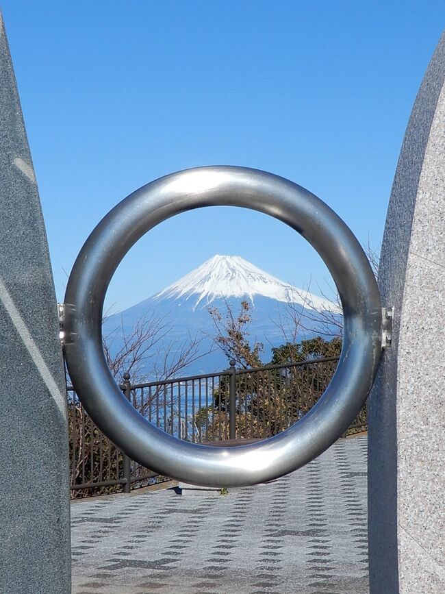
[[[231,362],[233,363],[233,362]],[[329,384],[338,357],[257,369],[191,375],[163,382],[121,386],[148,421],[179,439],[215,443],[265,439],[301,419]],[[162,477],[130,460],[92,422],[68,387],[71,488],[73,497],[144,486]],[[348,432],[366,428],[361,410]]]

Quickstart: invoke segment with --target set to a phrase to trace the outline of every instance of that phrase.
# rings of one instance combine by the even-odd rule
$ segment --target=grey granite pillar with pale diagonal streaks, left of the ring
[[[68,438],[47,238],[0,15],[0,592],[70,589]]]

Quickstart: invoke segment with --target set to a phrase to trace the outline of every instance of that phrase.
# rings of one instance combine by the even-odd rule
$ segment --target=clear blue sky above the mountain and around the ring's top
[[[378,247],[403,134],[445,27],[443,0],[3,0],[58,299],[103,215],[180,169],[271,171]],[[270,217],[177,216],[120,266],[114,311],[237,254],[323,284],[312,248]]]

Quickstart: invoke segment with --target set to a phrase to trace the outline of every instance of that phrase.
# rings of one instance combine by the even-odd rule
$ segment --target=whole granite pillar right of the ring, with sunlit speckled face
[[[368,400],[372,594],[445,591],[445,34],[407,127],[379,285],[396,308]]]

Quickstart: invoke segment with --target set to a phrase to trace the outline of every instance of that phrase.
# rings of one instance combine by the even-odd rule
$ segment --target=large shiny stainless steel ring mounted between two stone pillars
[[[338,368],[316,406],[288,430],[250,445],[179,441],[149,423],[114,382],[103,355],[102,309],[120,260],[170,216],[203,206],[241,206],[274,216],[305,237],[340,293],[344,340]],[[94,423],[133,460],[204,486],[243,486],[294,471],[355,419],[381,355],[381,303],[368,259],[351,230],[314,194],[283,177],[233,166],[179,171],[129,195],[97,225],[66,288],[64,349],[73,385]]]

